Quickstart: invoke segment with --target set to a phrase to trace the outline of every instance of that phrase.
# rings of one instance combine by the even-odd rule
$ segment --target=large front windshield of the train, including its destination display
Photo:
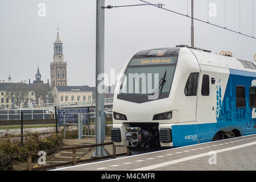
[[[177,56],[131,59],[123,75],[117,98],[137,103],[167,98],[176,63]]]

